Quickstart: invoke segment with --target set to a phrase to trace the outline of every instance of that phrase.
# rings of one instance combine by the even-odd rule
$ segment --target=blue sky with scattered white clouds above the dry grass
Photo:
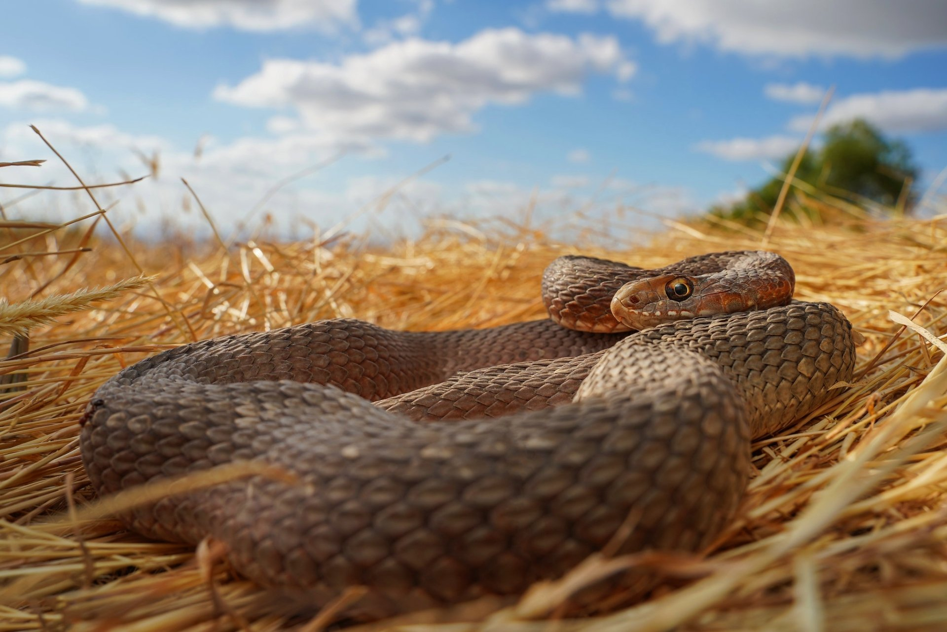
[[[767,177],[825,89],[826,122],[903,138],[922,186],[947,167],[947,3],[884,0],[46,0],[7,3],[0,160],[49,157],[36,124],[116,218],[188,224],[180,177],[223,225],[281,178],[284,225],[334,225],[438,157],[375,222],[695,212]],[[194,148],[202,151],[195,156]],[[50,160],[6,182],[72,184]],[[103,194],[105,195],[105,194]],[[10,195],[0,194],[0,203]],[[34,198],[21,214],[75,216]],[[12,210],[9,211],[12,213]]]

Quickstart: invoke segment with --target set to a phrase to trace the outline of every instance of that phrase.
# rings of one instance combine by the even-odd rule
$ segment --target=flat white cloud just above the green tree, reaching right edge
[[[938,132],[947,130],[947,89],[917,88],[851,95],[832,102],[820,122],[821,129],[865,118],[885,132]],[[808,130],[813,117],[793,118],[789,127]]]

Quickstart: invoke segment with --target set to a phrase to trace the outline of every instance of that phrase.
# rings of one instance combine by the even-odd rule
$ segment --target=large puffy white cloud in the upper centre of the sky
[[[630,64],[614,37],[488,29],[456,44],[395,42],[338,64],[269,60],[214,96],[295,108],[304,127],[321,134],[424,142],[470,132],[474,113],[490,103],[523,103],[540,92],[575,95],[591,73],[627,80]]]

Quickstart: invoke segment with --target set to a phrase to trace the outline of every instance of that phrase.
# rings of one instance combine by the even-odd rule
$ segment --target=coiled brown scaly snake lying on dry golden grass
[[[792,298],[765,251],[642,269],[565,256],[548,318],[407,332],[353,318],[185,344],[121,370],[82,417],[98,495],[244,461],[257,472],[122,512],[222,542],[302,605],[366,618],[514,598],[608,551],[708,547],[755,438],[826,403],[849,320]]]

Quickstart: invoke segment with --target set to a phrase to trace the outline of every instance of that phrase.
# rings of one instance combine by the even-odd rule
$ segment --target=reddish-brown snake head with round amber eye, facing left
[[[717,275],[666,274],[625,283],[612,298],[612,315],[642,330],[674,320],[759,309],[755,293]]]

